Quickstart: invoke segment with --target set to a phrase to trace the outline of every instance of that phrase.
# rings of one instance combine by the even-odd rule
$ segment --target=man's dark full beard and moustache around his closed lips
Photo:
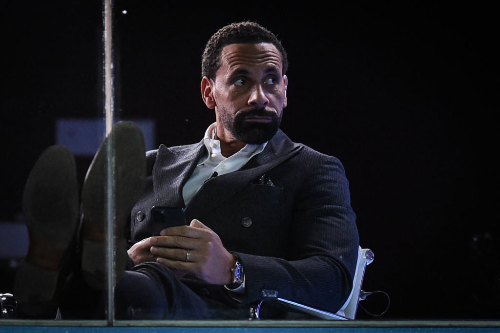
[[[247,116],[266,116],[270,117],[271,121],[247,121],[245,119]],[[278,116],[275,112],[267,111],[264,107],[254,107],[248,111],[236,112],[234,116],[229,112],[221,112],[220,119],[224,127],[229,129],[237,140],[250,144],[261,144],[269,141],[276,134],[281,123],[281,115]]]

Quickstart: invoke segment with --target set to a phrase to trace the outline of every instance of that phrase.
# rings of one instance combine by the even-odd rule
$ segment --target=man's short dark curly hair
[[[221,27],[208,39],[203,55],[201,56],[201,76],[215,79],[215,73],[220,67],[220,53],[222,48],[230,44],[239,43],[271,43],[281,53],[283,75],[288,69],[288,58],[281,41],[267,28],[252,21],[242,21]]]

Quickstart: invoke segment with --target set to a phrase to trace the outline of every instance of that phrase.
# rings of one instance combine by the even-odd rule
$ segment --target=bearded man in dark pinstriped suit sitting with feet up
[[[129,198],[116,199],[117,207],[136,202],[127,210],[128,263],[117,259],[118,317],[245,318],[250,306],[276,297],[332,312],[344,303],[358,250],[348,181],[337,158],[279,129],[286,69],[286,52],[272,32],[249,21],[229,24],[202,56],[201,97],[215,110],[203,140],[148,151],[143,186],[141,163],[132,162],[139,154],[120,153],[126,149],[115,140],[116,165],[136,175],[134,185],[117,179],[124,184],[117,197]],[[126,127],[118,124],[111,134],[134,136],[119,126]],[[93,175],[101,174],[93,170],[105,164],[103,156],[101,149],[87,173],[80,212],[81,268],[87,284],[100,289],[105,267],[95,258],[105,254],[99,221],[105,214],[97,209],[100,198],[88,193],[104,182]],[[153,206],[184,208],[188,225],[156,230]],[[118,234],[123,220],[116,218]],[[63,305],[61,311],[64,317]],[[283,313],[269,307],[268,317]]]

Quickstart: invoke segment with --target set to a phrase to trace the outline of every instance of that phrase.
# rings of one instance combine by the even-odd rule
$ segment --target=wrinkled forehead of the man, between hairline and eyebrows
[[[229,44],[220,53],[221,66],[266,64],[281,68],[281,53],[272,43]]]

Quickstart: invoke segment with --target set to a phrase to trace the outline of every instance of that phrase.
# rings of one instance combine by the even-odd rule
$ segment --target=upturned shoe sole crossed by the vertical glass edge
[[[107,285],[108,192],[112,192],[111,202],[114,203],[110,207],[110,218],[114,226],[115,283],[128,259],[122,232],[123,227],[130,223],[130,211],[145,185],[145,155],[144,136],[140,128],[133,122],[120,121],[106,136],[87,170],[80,206],[83,235],[81,269],[85,281],[95,288],[105,289]],[[112,177],[108,178],[108,174]],[[112,186],[112,191],[106,191],[109,186]]]

